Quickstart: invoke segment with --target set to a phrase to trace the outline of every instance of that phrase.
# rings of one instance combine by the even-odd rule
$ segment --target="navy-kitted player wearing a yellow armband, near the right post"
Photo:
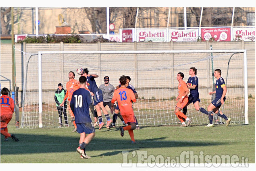
[[[225,85],[224,79],[221,77],[220,69],[214,70],[214,77],[217,79],[216,90],[213,92],[210,92],[209,95],[216,93],[216,98],[208,106],[208,117],[209,117],[210,123],[206,127],[213,127],[213,124],[212,124],[213,113],[216,113],[219,117],[222,117],[223,119],[225,119],[226,126],[229,126],[229,122],[231,121],[231,118],[227,118],[227,116],[224,115],[219,110],[221,105],[223,105],[226,100],[226,93],[227,93],[227,87]]]

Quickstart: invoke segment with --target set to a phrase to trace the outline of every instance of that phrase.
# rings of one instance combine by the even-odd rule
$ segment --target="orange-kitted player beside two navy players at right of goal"
[[[183,81],[182,79],[184,78],[184,74],[182,72],[179,72],[177,74],[177,80],[179,81],[179,86],[178,86],[178,90],[179,90],[179,95],[176,98],[176,101],[178,102],[174,113],[177,115],[177,117],[179,118],[179,120],[181,121],[181,127],[183,126],[189,126],[189,124],[192,122],[191,119],[189,119],[186,115],[184,115],[181,112],[181,109],[183,109],[183,107],[185,107],[188,103],[188,93],[189,93],[189,89],[187,88],[187,84],[185,81]],[[185,124],[185,122],[183,121],[183,118],[186,119],[187,124]]]

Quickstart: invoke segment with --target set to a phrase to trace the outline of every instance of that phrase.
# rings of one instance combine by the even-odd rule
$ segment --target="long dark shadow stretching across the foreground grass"
[[[106,130],[109,131],[109,130]],[[114,130],[115,131],[115,130]],[[77,134],[77,133],[76,133]],[[74,134],[73,134],[74,135]],[[50,153],[50,152],[74,152],[78,147],[79,135],[74,136],[50,136],[50,135],[28,135],[15,134],[19,138],[19,142],[13,142],[9,138],[8,142],[4,142],[1,136],[1,155],[19,155],[33,153]],[[128,134],[126,136],[129,136]],[[165,148],[165,147],[181,147],[181,146],[213,146],[226,144],[226,142],[204,142],[204,141],[175,141],[165,140],[167,137],[148,138],[145,140],[137,140],[137,144],[131,144],[131,140],[120,138],[104,138],[95,137],[86,147],[86,151],[103,150],[109,151],[99,156],[116,155],[124,150],[139,150],[140,148]],[[230,142],[229,142],[230,143]],[[113,151],[114,150],[114,151]]]

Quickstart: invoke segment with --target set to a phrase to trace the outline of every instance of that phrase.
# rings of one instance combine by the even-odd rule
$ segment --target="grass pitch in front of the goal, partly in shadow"
[[[161,155],[164,159],[180,157],[183,151],[193,151],[194,155],[237,155],[255,163],[255,99],[249,99],[249,124],[216,125],[191,124],[189,127],[145,126],[134,130],[137,144],[131,144],[127,131],[120,136],[119,128],[96,129],[96,136],[86,147],[91,159],[80,159],[76,152],[79,134],[69,128],[16,129],[15,117],[8,125],[8,132],[15,134],[19,142],[4,141],[1,135],[1,163],[123,163],[122,152],[129,151],[128,159],[138,163],[135,152]],[[181,161],[179,161],[180,163]],[[182,163],[182,162],[181,162]],[[194,163],[194,161],[190,161]],[[62,168],[63,169],[63,168]]]

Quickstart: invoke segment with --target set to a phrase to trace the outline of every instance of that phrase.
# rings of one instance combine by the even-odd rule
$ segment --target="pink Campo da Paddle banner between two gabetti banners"
[[[202,40],[231,41],[230,28],[201,29]]]

